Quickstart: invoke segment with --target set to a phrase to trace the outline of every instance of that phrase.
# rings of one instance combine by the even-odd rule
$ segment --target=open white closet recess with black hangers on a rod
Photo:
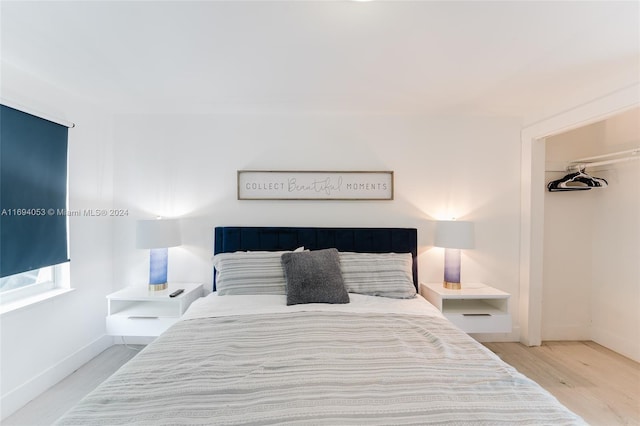
[[[542,340],[640,361],[640,108],[549,137],[545,152]]]

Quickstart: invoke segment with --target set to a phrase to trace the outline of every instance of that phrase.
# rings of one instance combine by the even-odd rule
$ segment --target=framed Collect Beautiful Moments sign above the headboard
[[[238,200],[393,200],[393,172],[238,170]]]

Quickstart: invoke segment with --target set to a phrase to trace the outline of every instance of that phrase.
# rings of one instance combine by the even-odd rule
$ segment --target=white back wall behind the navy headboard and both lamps
[[[520,125],[510,118],[371,115],[174,115],[116,119],[115,281],[144,285],[135,219],[182,218],[169,279],[211,286],[221,225],[407,226],[419,229],[419,275],[442,280],[429,219],[476,222],[462,279],[518,297]],[[393,170],[393,201],[238,201],[236,171]],[[517,318],[517,304],[512,304]],[[517,324],[516,324],[517,328]],[[517,339],[517,337],[509,337]]]

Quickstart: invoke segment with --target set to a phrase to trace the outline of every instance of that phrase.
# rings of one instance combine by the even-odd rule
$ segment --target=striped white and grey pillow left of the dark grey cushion
[[[300,247],[295,251],[304,250]],[[218,295],[286,294],[281,256],[291,251],[236,251],[213,256]]]

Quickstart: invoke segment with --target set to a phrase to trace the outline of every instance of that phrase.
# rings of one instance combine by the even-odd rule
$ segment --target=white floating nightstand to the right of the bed
[[[485,284],[462,284],[448,290],[442,283],[420,283],[420,294],[467,333],[511,331],[509,293]]]

